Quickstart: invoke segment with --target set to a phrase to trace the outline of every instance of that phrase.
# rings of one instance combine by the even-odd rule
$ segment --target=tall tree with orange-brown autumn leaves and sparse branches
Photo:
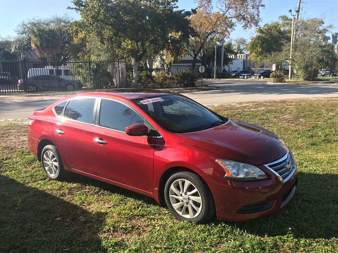
[[[260,21],[260,7],[262,0],[196,0],[198,9],[190,18],[190,25],[194,29],[194,36],[188,44],[188,52],[193,57],[192,68],[201,50],[216,35],[228,37],[237,24],[243,29],[257,26]]]

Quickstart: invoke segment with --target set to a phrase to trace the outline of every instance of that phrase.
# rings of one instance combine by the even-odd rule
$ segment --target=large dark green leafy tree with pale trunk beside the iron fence
[[[100,38],[118,53],[129,56],[134,87],[138,65],[147,55],[166,49],[172,32],[188,39],[190,12],[175,10],[177,0],[73,0],[82,20],[74,23],[85,34]]]

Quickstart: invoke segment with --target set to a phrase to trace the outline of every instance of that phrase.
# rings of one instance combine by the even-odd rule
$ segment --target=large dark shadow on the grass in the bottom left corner
[[[0,175],[0,252],[104,252],[104,216]]]

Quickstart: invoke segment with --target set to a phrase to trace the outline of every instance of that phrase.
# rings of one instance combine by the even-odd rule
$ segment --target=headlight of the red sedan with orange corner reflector
[[[267,174],[254,165],[224,159],[216,159],[216,162],[225,171],[223,178],[226,179],[245,181],[268,178]]]

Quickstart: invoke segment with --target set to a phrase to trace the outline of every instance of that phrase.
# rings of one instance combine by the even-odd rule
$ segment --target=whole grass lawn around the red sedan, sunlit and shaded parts
[[[6,124],[0,126],[0,252],[338,252],[338,98],[212,109],[261,125],[289,145],[299,184],[278,214],[196,225],[176,220],[149,197],[90,178],[51,181],[27,151],[27,126]]]

